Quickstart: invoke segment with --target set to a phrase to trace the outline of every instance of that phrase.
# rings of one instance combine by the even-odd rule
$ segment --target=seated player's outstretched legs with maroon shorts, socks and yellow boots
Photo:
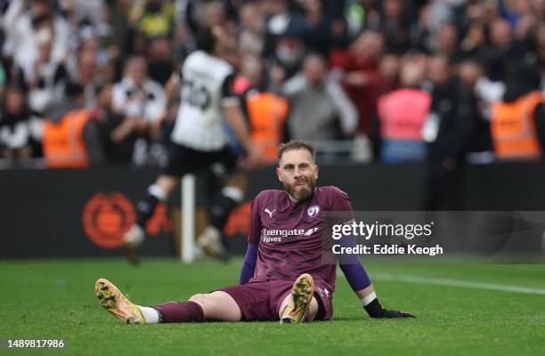
[[[314,295],[319,288],[314,287],[312,276],[305,273],[295,283],[288,280],[250,282],[153,307],[131,302],[108,279],[98,279],[94,292],[102,306],[124,324],[252,320],[300,323],[329,320],[330,298]],[[324,308],[324,304],[328,306]]]

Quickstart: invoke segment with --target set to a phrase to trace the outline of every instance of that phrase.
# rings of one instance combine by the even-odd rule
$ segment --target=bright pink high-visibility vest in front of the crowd
[[[378,99],[380,135],[384,140],[422,141],[431,95],[419,89],[398,89]]]

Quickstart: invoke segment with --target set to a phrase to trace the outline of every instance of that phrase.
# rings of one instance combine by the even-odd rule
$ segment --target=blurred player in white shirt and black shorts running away
[[[246,151],[249,164],[261,159],[250,141],[239,101],[232,93],[234,69],[224,60],[236,51],[236,43],[219,27],[201,29],[197,42],[199,51],[191,53],[183,62],[182,102],[171,136],[168,166],[150,185],[147,197],[138,202],[137,221],[124,237],[129,258],[134,258],[134,247],[142,245],[143,227],[155,206],[167,199],[184,174],[212,164],[220,164],[227,172],[234,172],[237,158],[228,146],[224,117]],[[240,179],[228,177],[226,181],[210,209],[210,226],[198,239],[199,244],[213,255],[224,255],[221,231],[232,208],[243,198]]]

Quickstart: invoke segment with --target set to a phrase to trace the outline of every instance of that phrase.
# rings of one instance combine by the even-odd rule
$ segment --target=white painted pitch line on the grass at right
[[[470,282],[468,280],[459,279],[435,279],[410,275],[400,276],[389,273],[374,273],[371,275],[371,279],[393,280],[397,282],[426,284],[432,286],[467,287],[475,289],[498,290],[500,292],[524,293],[527,295],[545,295],[545,289],[541,288],[505,286],[501,284]]]

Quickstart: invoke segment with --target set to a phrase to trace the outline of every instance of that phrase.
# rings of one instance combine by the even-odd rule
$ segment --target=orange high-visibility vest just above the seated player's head
[[[256,93],[246,100],[250,121],[250,138],[260,147],[265,158],[276,161],[276,150],[288,116],[288,101],[273,93]]]

